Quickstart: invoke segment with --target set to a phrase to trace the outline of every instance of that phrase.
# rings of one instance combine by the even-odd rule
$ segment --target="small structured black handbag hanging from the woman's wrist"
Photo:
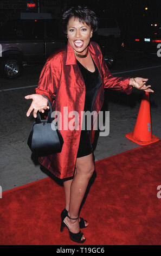
[[[48,99],[46,95],[42,96]],[[31,132],[27,142],[32,152],[38,153],[42,156],[53,153],[60,153],[63,146],[62,135],[57,129],[56,122],[53,120],[53,118],[51,118],[52,107],[49,99],[48,105],[48,119],[42,120],[40,112],[37,112],[37,118],[31,127]]]

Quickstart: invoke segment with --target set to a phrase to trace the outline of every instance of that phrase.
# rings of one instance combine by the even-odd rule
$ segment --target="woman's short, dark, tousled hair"
[[[63,32],[65,34],[67,34],[68,21],[73,16],[78,18],[79,22],[86,23],[88,26],[91,25],[93,32],[96,31],[98,27],[98,18],[96,17],[94,11],[90,10],[88,7],[81,7],[78,5],[66,10],[61,17]]]

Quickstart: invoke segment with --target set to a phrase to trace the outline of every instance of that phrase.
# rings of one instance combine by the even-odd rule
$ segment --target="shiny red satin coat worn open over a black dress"
[[[130,94],[132,87],[129,86],[130,78],[118,78],[111,75],[98,44],[91,42],[88,46],[88,51],[98,67],[102,80],[92,109],[99,113],[104,102],[104,88]],[[64,106],[68,107],[68,113],[70,111],[77,111],[80,117],[80,112],[84,108],[86,87],[79,66],[76,64],[74,50],[69,42],[66,47],[55,52],[47,59],[41,71],[35,93],[48,96],[52,102],[53,111],[60,111],[62,119]],[[64,140],[61,153],[38,158],[38,161],[44,167],[60,179],[69,178],[74,175],[81,134],[81,121],[79,127],[79,130],[61,130]],[[95,130],[92,129],[92,143],[94,141],[94,133]]]

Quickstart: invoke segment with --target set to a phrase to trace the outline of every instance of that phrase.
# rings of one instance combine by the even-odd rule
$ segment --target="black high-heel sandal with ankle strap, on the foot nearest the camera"
[[[70,218],[70,217],[68,216],[68,212],[66,212],[66,211],[63,210],[63,211],[61,212],[61,228],[60,228],[60,231],[62,232],[63,229],[64,229],[65,227],[67,227],[67,229],[68,229],[68,231],[69,231],[69,236],[70,236],[70,239],[71,239],[71,240],[73,240],[74,242],[77,242],[77,243],[84,243],[84,242],[86,241],[86,238],[83,239],[83,240],[81,240],[81,238],[82,238],[82,236],[83,236],[83,233],[82,233],[81,231],[79,231],[79,233],[72,233],[72,232],[69,230],[67,224],[64,222],[64,220],[65,220],[66,217],[68,217],[70,220],[77,220],[77,219],[79,218],[79,217],[78,217],[78,218]]]

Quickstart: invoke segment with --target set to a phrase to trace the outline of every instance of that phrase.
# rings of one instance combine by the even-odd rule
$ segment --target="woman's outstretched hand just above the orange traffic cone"
[[[133,86],[137,88],[138,90],[144,90],[147,93],[154,93],[152,89],[150,89],[150,85],[146,86],[146,82],[148,81],[148,78],[143,77],[136,77],[136,78],[130,78],[130,86]]]

